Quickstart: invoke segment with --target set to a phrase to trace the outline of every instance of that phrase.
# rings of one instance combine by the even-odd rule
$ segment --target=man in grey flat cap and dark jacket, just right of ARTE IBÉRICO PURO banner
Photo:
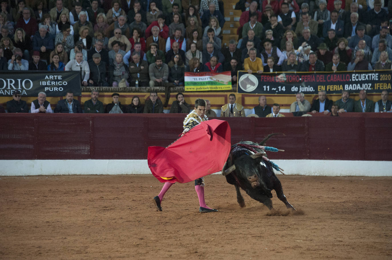
[[[90,79],[88,86],[94,87],[108,87],[107,71],[105,61],[101,61],[101,54],[94,53],[93,61],[89,62]]]

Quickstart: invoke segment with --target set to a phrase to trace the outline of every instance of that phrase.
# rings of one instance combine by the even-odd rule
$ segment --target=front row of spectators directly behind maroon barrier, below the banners
[[[73,92],[68,91],[65,99],[57,102],[54,109],[51,104],[46,100],[45,92],[38,93],[38,98],[31,102],[31,109],[27,103],[21,99],[19,90],[13,92],[13,99],[7,102],[8,113],[164,113],[163,103],[158,98],[158,93],[151,91],[149,97],[145,100],[145,104],[140,102],[138,96],[132,97],[131,104],[121,104],[119,101],[120,94],[113,93],[113,101],[105,107],[103,103],[98,100],[99,92],[97,90],[91,91],[91,99],[87,100],[82,105],[80,102],[73,98]],[[354,101],[350,99],[350,92],[347,90],[342,91],[341,99],[332,102],[327,98],[327,93],[322,90],[318,91],[318,99],[314,99],[312,104],[305,99],[302,92],[296,93],[295,99],[290,106],[290,113],[294,116],[303,116],[316,113],[323,113],[324,115],[339,116],[341,113],[350,112],[392,112],[392,101],[388,99],[389,93],[387,90],[381,92],[381,99],[373,102],[367,99],[366,90],[359,91],[359,100]],[[206,101],[207,117],[217,117],[216,112],[211,109],[210,100]],[[184,94],[179,92],[176,94],[176,100],[171,104],[169,113],[189,113],[192,107],[191,104],[185,102]],[[285,117],[279,113],[280,105],[274,103],[271,106],[267,105],[267,98],[262,95],[259,97],[259,104],[255,106],[250,112],[249,116],[254,117]],[[5,109],[0,106],[0,113],[5,113]],[[236,95],[229,95],[229,103],[221,107],[220,117],[246,117],[244,107],[236,103]]]

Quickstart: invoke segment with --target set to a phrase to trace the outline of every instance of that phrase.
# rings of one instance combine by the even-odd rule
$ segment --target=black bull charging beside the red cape
[[[245,206],[240,192],[241,187],[252,199],[260,201],[271,210],[271,190],[275,190],[276,195],[285,203],[287,208],[295,210],[287,201],[285,194],[283,194],[282,185],[274,173],[271,162],[261,156],[264,151],[254,147],[247,148],[246,145],[258,146],[259,144],[251,141],[243,141],[232,145],[232,151],[230,151],[227,163],[222,169],[222,174],[225,175],[227,174],[227,172],[224,173],[225,170],[235,165],[235,170],[226,175],[226,180],[236,187],[238,204],[241,207]],[[261,152],[260,157],[252,158],[251,155],[254,154],[251,151],[252,149]]]

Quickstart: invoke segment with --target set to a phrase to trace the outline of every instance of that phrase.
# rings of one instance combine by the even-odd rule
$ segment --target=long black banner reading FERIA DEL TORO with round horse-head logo
[[[356,72],[268,72],[248,74],[238,72],[238,93],[284,94],[297,92],[316,94],[325,90],[327,94],[339,94],[342,90],[359,93],[381,93],[391,91],[392,70]]]

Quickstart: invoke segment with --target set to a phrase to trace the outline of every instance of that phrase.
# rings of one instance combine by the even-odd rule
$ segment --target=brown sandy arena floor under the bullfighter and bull
[[[207,176],[198,213],[193,183],[152,175],[0,177],[0,259],[392,259],[392,178],[278,176],[287,210]]]

